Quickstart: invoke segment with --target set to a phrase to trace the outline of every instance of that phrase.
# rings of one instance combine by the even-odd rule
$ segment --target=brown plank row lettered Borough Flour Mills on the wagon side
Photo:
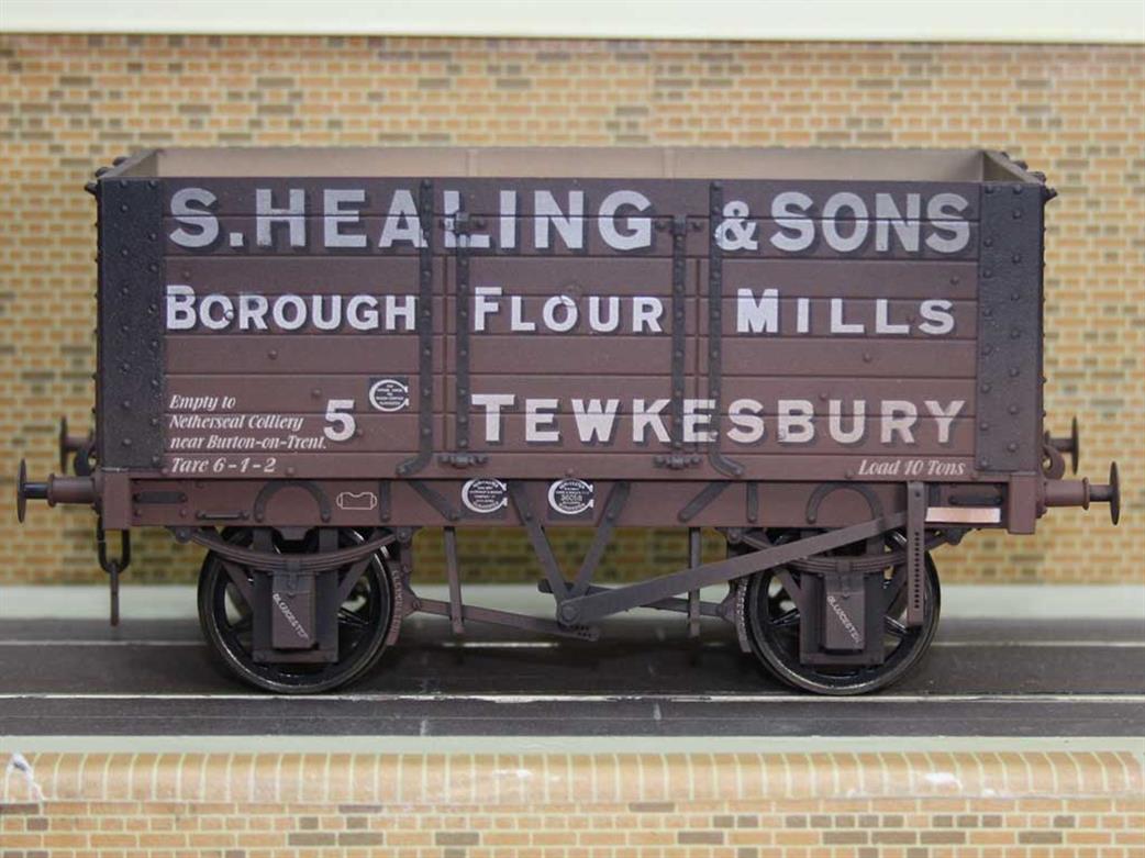
[[[633,262],[626,260],[625,262]],[[653,263],[656,264],[656,263]],[[767,263],[758,263],[765,268]],[[513,334],[530,335],[616,335],[626,333],[671,333],[671,285],[656,275],[668,275],[669,263],[657,265],[655,272],[626,279],[616,289],[586,284],[571,273],[562,286],[550,291],[532,281],[493,284],[498,278],[485,272],[471,278],[471,285],[483,294],[469,300],[471,327],[474,335]],[[694,281],[694,278],[688,278]],[[660,281],[657,281],[660,280]],[[506,283],[506,281],[502,281]],[[753,284],[769,284],[766,272],[752,277]],[[582,285],[584,284],[584,285]],[[175,311],[175,329],[188,334],[219,335],[220,332],[270,333],[327,333],[341,335],[378,328],[384,333],[413,333],[417,294],[412,288],[371,288],[364,291],[335,288],[329,283],[300,285],[300,288],[279,293],[230,284],[222,289],[207,291],[190,284],[175,284],[167,296]],[[190,287],[194,293],[187,293]],[[816,281],[806,292],[827,293],[830,287]],[[727,336],[855,335],[854,325],[861,325],[860,335],[882,335],[889,339],[972,339],[976,336],[978,308],[972,301],[916,297],[886,299],[853,296],[847,286],[836,287],[831,294],[812,297],[803,289],[780,291],[772,286],[740,286],[729,292],[722,302],[724,333]],[[742,294],[741,294],[742,293]],[[779,297],[775,297],[775,296]],[[764,311],[774,299],[777,302],[779,331],[764,331]],[[836,307],[838,304],[838,307]],[[435,299],[433,320],[435,333],[456,332],[456,299]],[[194,319],[188,313],[194,313]],[[806,324],[800,323],[800,315]],[[950,317],[953,328],[943,320]],[[708,301],[701,299],[698,312],[689,302],[685,317],[688,334],[706,333]],[[208,323],[210,326],[208,326]],[[227,324],[229,323],[229,324]],[[184,325],[194,327],[183,329]],[[301,325],[301,326],[299,326]],[[323,325],[324,327],[318,327]],[[333,328],[331,328],[333,326]],[[903,329],[901,326],[906,326]],[[752,328],[760,328],[753,331]],[[939,333],[940,332],[940,333]]]

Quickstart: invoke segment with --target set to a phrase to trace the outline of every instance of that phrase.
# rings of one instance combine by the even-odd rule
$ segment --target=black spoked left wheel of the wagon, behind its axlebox
[[[223,538],[248,547],[253,532],[228,529]],[[340,548],[360,545],[361,533],[339,530]],[[311,553],[314,533],[298,542],[275,539],[281,554]],[[253,585],[250,569],[230,565]],[[210,551],[199,572],[199,625],[203,635],[226,667],[244,682],[283,694],[311,694],[344,685],[369,670],[381,657],[394,613],[394,585],[389,559],[381,551],[372,555],[361,570],[346,601],[338,610],[338,660],[321,664],[261,664],[252,658],[254,611],[243,591],[228,574],[222,557]],[[325,573],[334,574],[334,572]],[[339,581],[350,574],[349,566],[337,571]]]

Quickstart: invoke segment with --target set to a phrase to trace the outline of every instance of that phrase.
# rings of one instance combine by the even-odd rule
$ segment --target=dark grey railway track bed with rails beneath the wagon
[[[417,737],[1145,737],[1145,622],[950,617],[893,691],[796,693],[722,623],[689,641],[658,617],[595,645],[504,629],[455,638],[419,618],[361,682],[276,698],[222,673],[197,623],[0,620],[0,733]],[[34,658],[31,657],[34,652]]]

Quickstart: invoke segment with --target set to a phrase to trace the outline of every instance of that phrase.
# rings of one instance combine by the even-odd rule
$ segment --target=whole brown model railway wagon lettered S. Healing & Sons
[[[95,429],[62,427],[69,475],[21,464],[21,517],[92,505],[113,587],[132,527],[205,547],[204,633],[271,691],[360,676],[414,611],[593,638],[638,606],[869,691],[934,635],[934,547],[1118,518],[1116,469],[1063,479],[1076,427],[1043,430],[1053,193],[1001,153],[171,149],[88,190]],[[593,582],[616,527],[665,525],[679,569]],[[524,529],[553,619],[465,604],[466,526]],[[559,526],[594,530],[577,570]]]

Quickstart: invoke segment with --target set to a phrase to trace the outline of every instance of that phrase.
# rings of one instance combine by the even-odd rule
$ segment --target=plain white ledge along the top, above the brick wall
[[[1139,43],[1140,0],[5,0],[0,30],[68,33]]]

